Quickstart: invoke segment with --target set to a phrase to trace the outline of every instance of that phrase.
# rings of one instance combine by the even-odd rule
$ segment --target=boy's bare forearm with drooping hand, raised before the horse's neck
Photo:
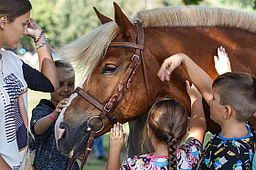
[[[184,67],[187,71],[187,75],[189,75],[191,81],[197,86],[198,91],[204,96],[209,105],[209,101],[212,99],[212,80],[208,74],[187,55],[180,53],[166,58],[157,76],[163,82],[170,81],[170,75],[178,65]]]

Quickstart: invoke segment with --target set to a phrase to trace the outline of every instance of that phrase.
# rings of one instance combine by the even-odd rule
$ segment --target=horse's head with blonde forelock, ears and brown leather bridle
[[[56,123],[58,148],[64,155],[71,151],[73,157],[80,155],[91,129],[96,132],[96,137],[100,136],[112,127],[110,119],[112,123],[115,120],[124,123],[143,115],[148,109],[143,66],[139,66],[143,38],[142,45],[137,45],[136,26],[115,3],[114,9],[114,21],[94,9],[102,25],[66,48],[73,50],[70,51],[72,56],[74,53],[80,55],[80,58],[75,57],[86,75]],[[124,45],[116,42],[124,42]]]

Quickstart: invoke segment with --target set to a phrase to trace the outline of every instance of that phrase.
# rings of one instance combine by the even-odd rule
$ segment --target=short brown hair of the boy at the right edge
[[[256,112],[256,79],[249,74],[229,72],[212,84],[220,105],[230,105],[239,122],[247,122]]]

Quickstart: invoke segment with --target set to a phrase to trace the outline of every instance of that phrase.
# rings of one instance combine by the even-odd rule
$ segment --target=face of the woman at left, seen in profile
[[[4,16],[5,17],[5,16]],[[16,48],[23,35],[27,35],[27,24],[30,20],[30,11],[25,15],[17,16],[14,22],[5,20],[5,26],[2,30],[0,47],[8,46]],[[1,20],[2,22],[2,20]]]

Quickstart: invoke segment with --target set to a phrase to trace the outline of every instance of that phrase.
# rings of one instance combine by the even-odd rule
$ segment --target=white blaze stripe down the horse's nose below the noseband
[[[55,139],[56,143],[58,143],[59,138],[65,132],[65,129],[60,129],[59,124],[63,121],[64,112],[66,111],[67,107],[71,104],[71,101],[77,96],[77,94],[70,95],[68,104],[62,109],[59,114],[59,117],[55,123]],[[58,145],[57,145],[58,146]]]

